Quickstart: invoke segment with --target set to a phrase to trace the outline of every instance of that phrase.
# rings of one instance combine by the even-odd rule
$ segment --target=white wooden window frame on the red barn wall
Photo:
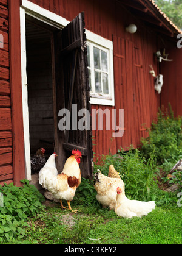
[[[91,84],[95,87],[95,79],[94,79],[94,67],[93,67],[93,46],[98,49],[101,49],[107,52],[107,73],[108,73],[108,85],[109,85],[109,94],[106,95],[99,95],[98,93],[92,93],[90,91],[90,104],[97,104],[97,105],[115,105],[115,97],[114,97],[114,78],[113,78],[113,42],[107,40],[100,35],[97,35],[89,30],[86,30],[87,36],[87,44],[90,44],[91,51],[90,53],[90,62],[92,68],[92,75],[91,75]],[[92,88],[93,88],[92,87]]]

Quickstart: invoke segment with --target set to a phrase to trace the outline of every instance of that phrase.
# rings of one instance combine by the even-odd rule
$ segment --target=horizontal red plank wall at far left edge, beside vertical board
[[[13,180],[12,118],[10,98],[10,62],[8,40],[8,1],[0,1],[0,34],[4,48],[0,48],[0,184]],[[1,37],[2,37],[1,36]]]

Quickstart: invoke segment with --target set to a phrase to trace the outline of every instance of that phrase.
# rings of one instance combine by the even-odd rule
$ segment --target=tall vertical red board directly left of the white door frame
[[[13,179],[21,186],[25,178],[24,127],[21,88],[21,43],[19,1],[8,1],[10,22],[10,84],[12,100]]]

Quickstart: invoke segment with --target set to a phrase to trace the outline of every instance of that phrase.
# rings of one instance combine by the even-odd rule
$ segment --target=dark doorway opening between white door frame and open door
[[[55,151],[51,37],[52,32],[26,20],[30,154],[44,148],[45,157]]]

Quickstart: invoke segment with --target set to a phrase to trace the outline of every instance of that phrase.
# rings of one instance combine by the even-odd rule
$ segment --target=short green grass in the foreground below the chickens
[[[177,205],[156,207],[143,218],[125,219],[98,207],[75,205],[78,213],[61,210],[59,204],[46,213],[29,219],[23,240],[16,243],[59,244],[180,244],[182,243],[182,208]],[[72,218],[72,227],[63,217]],[[90,240],[98,239],[98,240]]]

